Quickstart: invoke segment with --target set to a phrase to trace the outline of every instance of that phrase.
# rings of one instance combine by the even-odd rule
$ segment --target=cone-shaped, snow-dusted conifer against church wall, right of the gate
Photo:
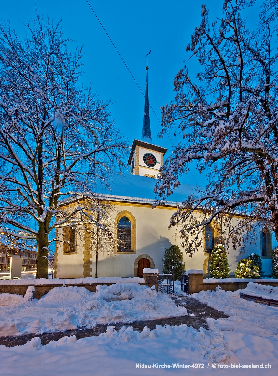
[[[229,278],[227,252],[222,244],[218,244],[210,254],[209,274],[211,278]]]

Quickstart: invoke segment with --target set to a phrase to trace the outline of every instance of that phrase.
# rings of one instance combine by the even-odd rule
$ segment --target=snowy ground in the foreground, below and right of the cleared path
[[[230,317],[209,319],[210,331],[181,325],[157,326],[153,331],[145,328],[138,334],[127,325],[118,333],[109,327],[105,334],[78,341],[64,337],[42,346],[40,339],[34,338],[23,346],[0,346],[0,372],[12,376],[277,374],[278,308],[248,302],[240,298],[239,292],[221,289],[202,291],[192,297]],[[141,368],[136,368],[136,364]],[[173,367],[178,364],[182,368]]]

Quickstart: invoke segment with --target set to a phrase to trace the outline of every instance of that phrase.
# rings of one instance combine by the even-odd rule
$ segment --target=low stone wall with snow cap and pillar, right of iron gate
[[[190,270],[188,271],[188,273]],[[203,273],[189,273],[188,278],[188,293],[199,293],[200,291],[215,291],[217,286],[220,286],[224,291],[236,291],[245,289],[248,282],[255,282],[265,286],[278,286],[278,279],[255,279],[255,278],[225,278],[225,279],[204,279]]]

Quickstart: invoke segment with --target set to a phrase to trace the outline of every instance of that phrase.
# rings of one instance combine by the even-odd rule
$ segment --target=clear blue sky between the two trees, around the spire
[[[160,106],[169,103],[174,97],[173,78],[184,67],[189,57],[186,45],[191,33],[201,22],[201,4],[204,0],[174,2],[164,0],[106,0],[93,1],[91,6],[97,14],[110,38],[121,53],[139,86],[145,91],[145,55],[149,57],[149,97],[150,105],[160,118]],[[205,1],[210,10],[211,20],[222,14],[222,0]],[[73,49],[83,45],[84,75],[81,83],[89,85],[104,100],[110,100],[110,111],[118,128],[130,139],[141,138],[144,96],[127,71],[104,30],[98,23],[86,0],[15,0],[1,2],[1,19],[9,17],[11,26],[18,35],[24,35],[30,18],[35,17],[35,7],[42,15],[58,21],[62,19],[65,35],[75,42]],[[254,11],[253,11],[254,12]],[[191,59],[187,66],[196,77],[198,62]],[[177,144],[179,137],[170,132],[169,136],[157,139],[161,126],[153,112],[150,113],[151,132],[154,143],[168,148],[167,155]],[[205,185],[205,176],[199,176],[195,168],[191,172],[200,185]],[[182,181],[196,184],[192,175]]]

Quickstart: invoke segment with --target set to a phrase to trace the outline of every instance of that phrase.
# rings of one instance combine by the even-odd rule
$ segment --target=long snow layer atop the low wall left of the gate
[[[60,278],[32,278],[32,279],[13,279],[13,280],[0,280],[0,285],[73,285],[73,284],[93,284],[93,283],[145,283],[144,278],[139,277],[85,277],[85,278],[73,278],[73,279],[60,279]]]

